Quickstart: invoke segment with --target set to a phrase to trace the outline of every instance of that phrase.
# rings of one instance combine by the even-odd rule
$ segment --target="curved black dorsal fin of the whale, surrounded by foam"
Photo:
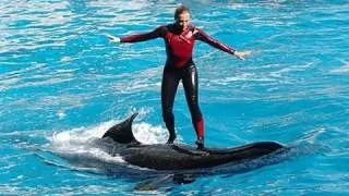
[[[139,113],[133,113],[123,122],[110,127],[104,135],[103,138],[109,137],[116,143],[130,144],[137,143],[132,133],[132,122]]]

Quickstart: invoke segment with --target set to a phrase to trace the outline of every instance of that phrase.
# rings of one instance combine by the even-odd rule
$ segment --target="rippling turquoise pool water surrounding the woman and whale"
[[[208,146],[276,140],[294,150],[250,172],[204,175],[137,192],[141,180],[58,157],[122,162],[89,142],[139,111],[137,139],[164,143],[161,39],[111,45],[172,22],[177,1],[0,2],[0,194],[349,194],[349,3],[346,0],[184,1],[192,22],[245,61],[195,47]],[[178,143],[195,136],[180,86]],[[95,172],[94,172],[95,171]],[[141,173],[142,175],[142,173]],[[163,184],[161,184],[163,185]]]

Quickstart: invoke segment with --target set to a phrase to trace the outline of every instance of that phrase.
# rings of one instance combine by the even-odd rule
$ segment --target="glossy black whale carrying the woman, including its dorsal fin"
[[[132,133],[132,123],[137,113],[110,127],[103,136],[113,147],[113,155],[120,156],[132,166],[167,170],[195,170],[241,163],[272,155],[285,146],[275,142],[257,142],[231,148],[196,149],[184,144],[146,145],[137,142]]]

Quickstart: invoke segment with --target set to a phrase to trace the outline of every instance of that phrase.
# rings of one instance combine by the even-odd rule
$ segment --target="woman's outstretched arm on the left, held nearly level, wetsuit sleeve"
[[[107,35],[107,37],[110,39],[111,42],[140,42],[140,41],[146,41],[149,39],[155,39],[158,37],[161,37],[161,27],[158,27],[149,33],[144,34],[135,34],[127,37],[116,37],[111,35]]]

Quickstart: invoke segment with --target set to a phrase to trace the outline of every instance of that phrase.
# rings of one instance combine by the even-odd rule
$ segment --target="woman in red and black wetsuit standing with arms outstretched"
[[[159,26],[153,32],[131,35],[127,37],[115,37],[108,35],[111,42],[140,42],[155,38],[164,38],[166,44],[167,61],[164,69],[161,84],[161,108],[166,127],[169,131],[168,144],[176,139],[173,101],[179,82],[185,91],[186,102],[196,132],[197,148],[204,147],[204,120],[197,102],[197,71],[192,59],[194,42],[196,39],[204,41],[217,49],[228,52],[243,60],[250,51],[239,52],[228,46],[215,40],[202,29],[190,24],[190,10],[186,7],[179,7],[174,12],[173,24]]]

